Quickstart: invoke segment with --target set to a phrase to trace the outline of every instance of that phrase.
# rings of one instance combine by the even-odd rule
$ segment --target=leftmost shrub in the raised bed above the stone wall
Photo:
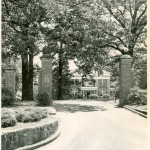
[[[6,127],[11,127],[15,126],[17,123],[15,114],[12,111],[6,111],[2,110],[2,115],[1,115],[1,127],[6,128]]]

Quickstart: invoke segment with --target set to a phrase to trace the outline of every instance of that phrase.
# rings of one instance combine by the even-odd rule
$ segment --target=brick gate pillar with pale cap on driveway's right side
[[[129,90],[132,87],[132,71],[131,71],[132,58],[129,55],[123,55],[120,58],[119,64],[119,103],[125,104]]]

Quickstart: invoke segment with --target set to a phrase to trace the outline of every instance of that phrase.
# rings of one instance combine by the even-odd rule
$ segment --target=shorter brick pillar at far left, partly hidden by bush
[[[5,87],[9,89],[12,94],[13,98],[15,99],[15,75],[16,75],[16,69],[13,65],[8,65],[5,69]]]

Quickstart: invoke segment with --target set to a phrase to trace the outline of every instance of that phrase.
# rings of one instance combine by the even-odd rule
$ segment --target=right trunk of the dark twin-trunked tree
[[[33,54],[29,54],[28,100],[33,100]]]

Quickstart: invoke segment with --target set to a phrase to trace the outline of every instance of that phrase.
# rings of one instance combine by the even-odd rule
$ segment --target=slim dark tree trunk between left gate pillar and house
[[[62,100],[62,69],[63,69],[63,64],[62,64],[62,46],[59,52],[59,66],[58,66],[58,95],[57,99]]]

